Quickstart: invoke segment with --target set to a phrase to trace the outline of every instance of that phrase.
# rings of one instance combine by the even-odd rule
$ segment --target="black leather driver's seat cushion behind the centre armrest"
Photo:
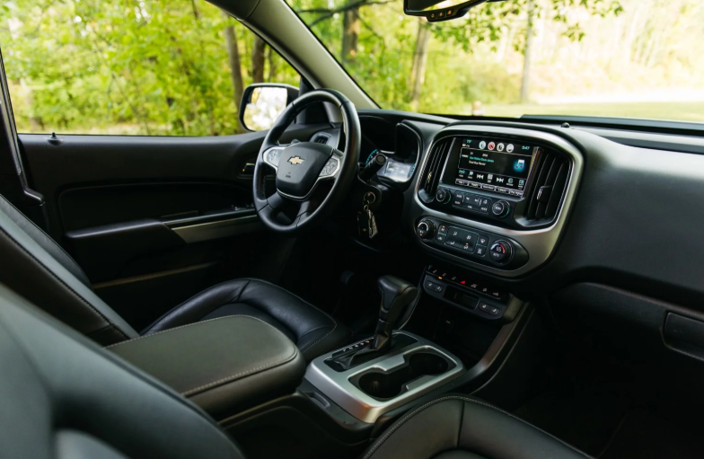
[[[327,313],[287,290],[259,279],[223,282],[193,296],[147,327],[142,334],[227,315],[250,315],[294,341],[306,361],[340,346],[352,332]]]

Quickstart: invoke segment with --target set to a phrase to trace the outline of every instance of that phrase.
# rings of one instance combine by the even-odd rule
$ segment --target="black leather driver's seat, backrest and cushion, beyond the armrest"
[[[78,264],[47,234],[0,197],[0,282],[103,346],[205,321],[246,314],[294,341],[307,361],[339,347],[352,332],[327,313],[262,280],[210,287],[137,333],[92,291]]]

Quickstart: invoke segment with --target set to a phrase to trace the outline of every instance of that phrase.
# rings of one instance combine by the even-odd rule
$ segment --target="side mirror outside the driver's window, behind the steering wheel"
[[[298,88],[290,84],[250,84],[242,94],[240,124],[250,131],[267,130],[296,97]]]

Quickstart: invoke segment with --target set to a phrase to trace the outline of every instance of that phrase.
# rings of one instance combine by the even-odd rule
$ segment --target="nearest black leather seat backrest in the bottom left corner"
[[[0,456],[242,459],[197,406],[0,285]]]

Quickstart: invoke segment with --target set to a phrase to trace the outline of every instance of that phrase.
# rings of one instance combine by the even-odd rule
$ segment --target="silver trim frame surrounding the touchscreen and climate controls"
[[[550,258],[550,255],[552,254],[553,250],[555,249],[555,246],[558,243],[559,236],[562,233],[565,222],[568,219],[569,210],[574,204],[576,190],[579,188],[579,182],[582,177],[584,160],[582,158],[582,154],[579,152],[579,150],[577,150],[576,146],[573,146],[562,137],[558,137],[554,134],[550,134],[547,132],[522,128],[499,128],[496,126],[453,126],[450,128],[444,128],[433,139],[433,142],[427,148],[427,151],[424,155],[421,171],[425,170],[427,166],[428,155],[430,154],[430,152],[433,151],[433,147],[436,145],[437,142],[448,137],[462,136],[462,134],[476,135],[478,133],[480,134],[485,132],[532,138],[550,144],[551,147],[569,155],[569,157],[572,159],[572,168],[569,172],[569,180],[565,191],[565,199],[559,207],[558,216],[556,217],[554,223],[545,228],[515,230],[475,221],[468,217],[445,214],[444,212],[433,210],[427,207],[423,203],[423,201],[418,198],[418,190],[420,184],[418,183],[418,181],[416,181],[414,199],[416,200],[416,203],[422,211],[421,216],[431,216],[435,218],[440,218],[450,223],[471,226],[472,228],[480,231],[486,231],[488,233],[498,234],[513,239],[517,243],[520,243],[524,246],[524,249],[526,250],[526,252],[528,252],[529,258],[528,262],[526,262],[526,264],[524,264],[524,266],[522,266],[521,268],[513,270],[498,269],[491,266],[483,265],[471,259],[466,259],[457,255],[453,255],[452,253],[441,251],[439,249],[436,249],[435,247],[423,243],[422,241],[419,241],[418,238],[416,239],[419,243],[423,244],[423,247],[425,249],[429,250],[430,252],[433,252],[434,254],[442,258],[452,259],[455,262],[458,262],[465,266],[471,266],[472,268],[487,271],[492,274],[496,274],[497,276],[502,276],[505,278],[515,278],[526,274],[532,269],[538,268]],[[418,216],[418,218],[421,216]],[[413,220],[414,225],[416,219],[417,218],[414,218]]]

